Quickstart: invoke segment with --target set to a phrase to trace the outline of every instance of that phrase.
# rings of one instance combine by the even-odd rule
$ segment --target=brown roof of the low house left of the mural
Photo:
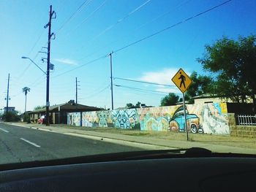
[[[65,112],[86,112],[86,111],[99,111],[103,110],[98,107],[91,107],[83,104],[76,104],[74,100],[70,100],[65,104],[56,104],[49,107],[50,112],[59,112],[59,107],[61,111]],[[45,112],[46,108],[40,110],[34,110],[29,113]]]

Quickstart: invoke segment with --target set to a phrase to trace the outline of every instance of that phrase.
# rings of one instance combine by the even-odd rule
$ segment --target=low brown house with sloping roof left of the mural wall
[[[67,112],[89,112],[102,110],[98,107],[91,107],[83,104],[76,104],[70,100],[65,104],[56,104],[49,107],[50,124],[67,124]],[[37,123],[37,120],[46,114],[46,108],[29,112],[31,123]]]

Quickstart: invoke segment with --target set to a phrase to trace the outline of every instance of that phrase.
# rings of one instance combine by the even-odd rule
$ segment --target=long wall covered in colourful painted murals
[[[230,134],[227,104],[187,104],[187,127],[193,134]],[[86,127],[132,128],[142,131],[185,131],[184,108],[150,107],[112,111],[68,113],[68,124]]]

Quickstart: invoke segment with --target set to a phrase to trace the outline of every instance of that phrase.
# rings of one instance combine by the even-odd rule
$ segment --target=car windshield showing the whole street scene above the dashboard
[[[0,164],[256,153],[256,1],[0,4]]]

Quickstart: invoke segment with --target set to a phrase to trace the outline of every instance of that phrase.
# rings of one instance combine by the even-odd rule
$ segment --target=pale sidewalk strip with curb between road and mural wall
[[[26,128],[35,128],[41,131],[52,131],[59,134],[68,134],[75,137],[86,137],[90,139],[113,139],[116,141],[127,141],[134,142],[146,145],[155,145],[159,147],[168,147],[168,148],[189,148],[189,147],[204,147],[213,152],[219,153],[251,153],[256,154],[256,148],[249,147],[236,147],[230,146],[233,141],[226,142],[227,145],[223,145],[223,142],[219,142],[222,145],[217,145],[214,142],[197,142],[197,141],[186,141],[186,140],[171,140],[171,139],[160,139],[156,137],[138,137],[127,134],[116,134],[108,132],[99,132],[99,131],[89,131],[89,128],[68,128],[67,126],[45,126],[39,124],[27,124],[27,123],[11,123],[14,126],[23,126]],[[138,131],[140,132],[140,131]],[[208,137],[211,137],[210,135]],[[214,136],[213,136],[214,137]],[[229,139],[230,137],[226,137]],[[236,139],[236,138],[235,138]],[[238,138],[239,139],[239,138]]]

